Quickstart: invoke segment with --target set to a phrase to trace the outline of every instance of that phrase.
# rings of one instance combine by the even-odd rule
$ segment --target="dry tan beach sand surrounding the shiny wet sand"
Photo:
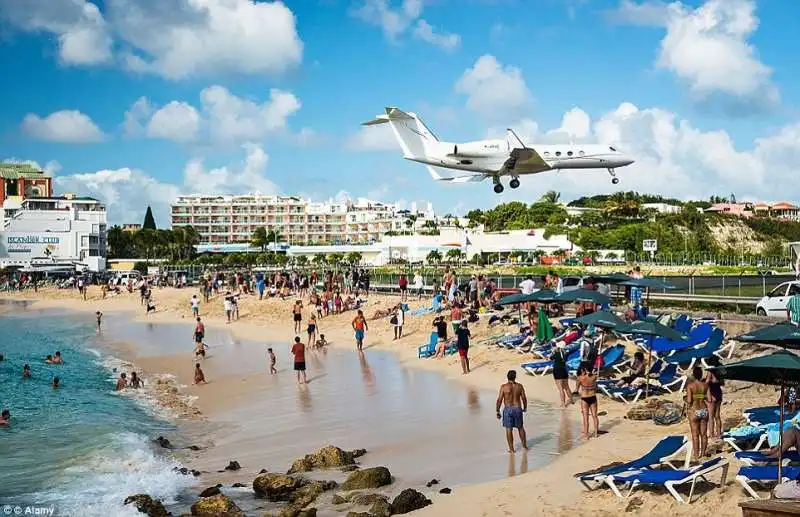
[[[158,310],[149,316],[145,316],[137,293],[122,294],[101,300],[100,289],[94,286],[90,288],[87,301],[80,299],[74,290],[55,289],[40,290],[39,293],[30,291],[8,293],[5,297],[35,300],[36,303],[33,305],[35,308],[66,308],[87,312],[96,310],[104,312],[135,311],[135,318],[141,321],[191,324],[189,298],[195,292],[194,289],[154,290],[153,299]],[[256,343],[290,343],[295,336],[290,319],[293,300],[294,298],[286,301],[258,301],[256,297],[242,296],[240,320],[226,325],[222,301],[212,298],[208,304],[201,304],[201,316],[207,327],[226,327],[233,335],[242,340]],[[399,299],[395,296],[370,295],[364,313],[369,320],[376,309],[390,307],[398,301]],[[427,303],[427,301],[412,301],[410,305],[413,309]],[[353,313],[346,313],[327,317],[320,321],[322,332],[333,347],[354,348],[350,327],[353,316]],[[87,315],[87,317],[89,316]],[[498,350],[483,345],[472,347],[470,356],[473,371],[469,375],[461,374],[457,356],[450,356],[442,360],[418,359],[417,346],[427,341],[431,330],[431,320],[431,315],[407,316],[404,338],[398,341],[392,339],[392,327],[388,320],[369,321],[370,329],[367,333],[365,349],[390,351],[396,354],[403,365],[436,371],[448,379],[466,383],[477,390],[496,392],[505,380],[506,371],[509,368],[516,368],[519,372],[518,380],[525,386],[530,399],[536,399],[552,406],[558,404],[552,378],[523,374],[519,369],[519,364],[522,359],[527,360],[528,356],[521,356],[515,351]],[[473,325],[471,330],[473,342],[499,332],[498,329],[488,329],[485,323]],[[305,338],[304,335],[301,337]],[[752,347],[746,350],[750,353],[753,351]],[[740,349],[736,355],[742,353],[743,350]],[[263,374],[236,374],[231,371],[232,365],[228,361],[207,360],[203,364],[203,368],[206,377],[212,379],[212,382],[206,386],[192,386],[193,363],[188,348],[186,353],[134,357],[132,359],[148,374],[171,373],[175,375],[179,384],[186,385],[185,394],[196,397],[194,403],[197,409],[212,422],[215,415],[224,414],[237,405],[247,404],[253,397],[263,394],[261,391],[263,390],[261,381]],[[266,365],[263,347],[259,349],[243,346],[239,359],[243,364],[264,361]],[[284,364],[287,362],[285,356],[280,360]],[[291,374],[289,372],[284,374],[287,373]],[[311,386],[313,387],[313,382]],[[212,387],[213,389],[210,389]],[[725,396],[726,404],[722,409],[723,420],[736,421],[740,418],[741,409],[744,407],[774,404],[777,393],[771,387],[729,383]],[[668,398],[679,400],[680,395],[676,394]],[[493,413],[493,409],[484,408],[487,413]],[[685,421],[673,426],[660,427],[651,421],[626,419],[625,414],[629,409],[630,406],[600,397],[600,423],[601,429],[607,431],[606,434],[582,443],[580,446],[560,454],[545,467],[531,470],[524,475],[458,487],[449,495],[426,492],[426,495],[433,499],[434,504],[415,512],[415,515],[431,517],[452,515],[572,516],[590,513],[611,516],[627,512],[632,515],[685,515],[688,517],[696,515],[698,512],[714,515],[739,514],[740,510],[737,505],[747,497],[741,487],[733,481],[738,464],[732,456],[729,456],[731,466],[727,484],[722,488],[698,484],[695,501],[691,505],[678,504],[664,491],[637,489],[629,499],[617,499],[609,490],[605,489],[587,492],[573,477],[575,473],[611,462],[639,457],[665,435],[688,434],[688,426]],[[580,419],[577,404],[558,411],[567,412],[569,417],[576,421]],[[530,419],[526,422],[526,426],[529,428],[536,425],[537,423]],[[504,437],[499,426],[496,440],[498,447],[504,447]],[[535,449],[532,452],[535,453]],[[468,454],[468,451],[466,453]],[[248,459],[257,461],[258,458],[250,457]],[[215,455],[212,447],[208,451],[198,454],[196,461],[203,465],[224,465],[227,463],[227,458]],[[387,466],[391,468],[391,465]],[[241,476],[236,480],[247,482],[247,480],[241,479]],[[719,483],[719,474],[712,474],[711,480]]]

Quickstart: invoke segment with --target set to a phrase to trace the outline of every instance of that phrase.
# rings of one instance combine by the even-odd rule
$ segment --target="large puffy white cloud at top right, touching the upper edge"
[[[692,97],[732,112],[780,102],[772,69],[748,39],[758,28],[754,0],[706,0],[697,8],[681,2],[624,0],[616,16],[628,23],[666,29],[656,66],[686,83]]]

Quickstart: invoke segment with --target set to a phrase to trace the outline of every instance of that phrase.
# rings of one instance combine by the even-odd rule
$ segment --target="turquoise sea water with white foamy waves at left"
[[[138,515],[131,494],[177,500],[191,480],[154,449],[174,428],[141,399],[114,391],[113,357],[91,317],[48,313],[0,316],[0,505],[52,504],[56,515]],[[65,364],[45,364],[60,350]],[[24,364],[32,377],[22,378]],[[121,363],[119,363],[121,364]],[[62,387],[53,389],[54,376]]]

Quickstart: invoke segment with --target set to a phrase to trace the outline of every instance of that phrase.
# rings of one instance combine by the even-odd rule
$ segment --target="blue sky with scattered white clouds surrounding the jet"
[[[2,0],[0,159],[159,226],[191,193],[368,197],[463,215],[638,190],[800,201],[800,2]],[[614,144],[636,163],[519,189],[408,162],[397,106],[447,141]]]

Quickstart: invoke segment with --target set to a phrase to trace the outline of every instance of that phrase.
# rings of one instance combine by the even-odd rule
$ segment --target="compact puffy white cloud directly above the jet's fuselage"
[[[516,117],[527,110],[531,92],[522,71],[485,54],[464,71],[456,81],[455,90],[467,96],[467,107],[487,118]]]

